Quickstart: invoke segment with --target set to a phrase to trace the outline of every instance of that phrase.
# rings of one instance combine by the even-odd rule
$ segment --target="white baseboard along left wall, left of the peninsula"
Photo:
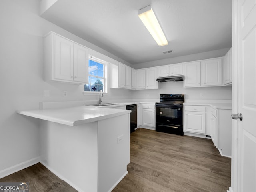
[[[28,168],[34,164],[39,163],[39,162],[40,162],[40,157],[36,157],[36,158],[30,159],[30,160],[27,160],[25,162],[19,163],[17,165],[11,166],[9,168],[6,168],[4,170],[1,170],[0,178],[6,177],[6,176],[13,174],[17,171],[20,171],[22,169]]]

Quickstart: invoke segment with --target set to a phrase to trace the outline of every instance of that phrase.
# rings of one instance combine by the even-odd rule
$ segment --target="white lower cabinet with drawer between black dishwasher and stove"
[[[155,104],[142,104],[142,125],[155,127]]]

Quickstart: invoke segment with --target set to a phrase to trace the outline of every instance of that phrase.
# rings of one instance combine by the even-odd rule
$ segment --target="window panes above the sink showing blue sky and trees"
[[[103,63],[92,60],[92,58],[89,60],[88,84],[84,85],[84,91],[99,92],[102,90],[105,92],[105,71]]]

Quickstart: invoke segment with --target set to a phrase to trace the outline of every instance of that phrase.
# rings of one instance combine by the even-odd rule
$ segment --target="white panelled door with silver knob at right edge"
[[[255,192],[256,191],[256,1],[255,0],[233,0],[237,9],[237,19],[233,33],[234,54],[233,59],[238,66],[234,70],[234,87],[238,88],[232,93],[234,98],[233,106],[238,101],[237,111],[241,113],[243,120],[232,120],[233,134],[232,147],[238,146],[232,151],[232,188],[234,192]],[[236,57],[237,56],[237,57]],[[238,78],[236,79],[236,72]],[[238,87],[236,86],[238,85]],[[236,97],[238,94],[238,99]],[[235,122],[234,122],[235,121]],[[236,126],[238,129],[235,129]],[[238,141],[236,141],[238,138]],[[237,171],[238,170],[238,171]],[[236,184],[237,183],[237,184]]]

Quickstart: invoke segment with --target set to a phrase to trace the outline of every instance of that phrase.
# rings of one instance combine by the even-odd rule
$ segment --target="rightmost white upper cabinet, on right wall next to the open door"
[[[223,85],[232,83],[232,48],[223,58]]]

